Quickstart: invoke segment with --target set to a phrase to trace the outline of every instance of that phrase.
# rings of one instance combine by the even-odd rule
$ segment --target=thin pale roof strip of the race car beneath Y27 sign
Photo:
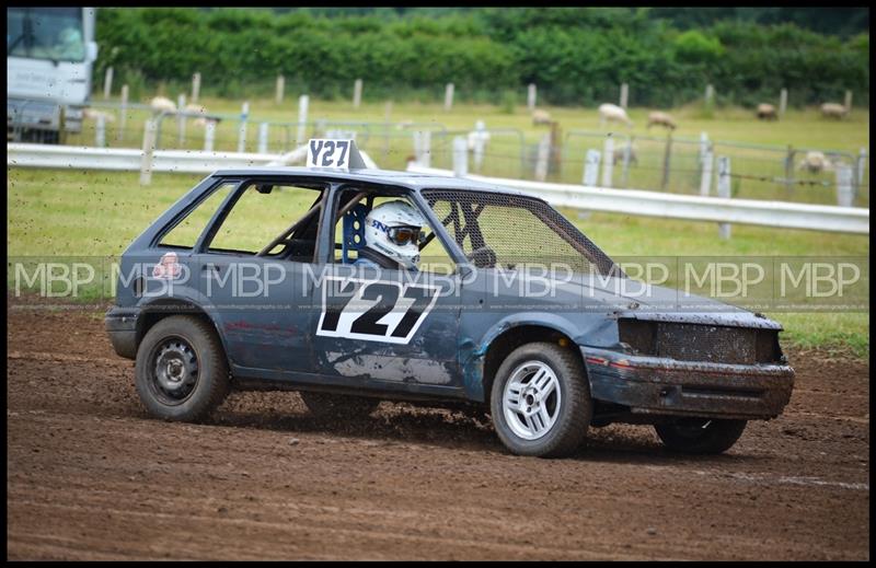
[[[487,192],[504,195],[517,195],[532,197],[543,201],[544,199],[529,192],[521,192],[502,185],[465,179],[463,177],[450,177],[446,175],[415,174],[411,172],[396,172],[393,170],[351,170],[342,172],[336,170],[322,170],[318,167],[297,167],[297,166],[270,166],[270,167],[238,167],[233,170],[218,170],[215,176],[237,177],[265,175],[272,177],[283,177],[284,175],[308,176],[324,178],[337,182],[370,182],[397,185],[419,192],[422,189],[457,189],[469,192]]]

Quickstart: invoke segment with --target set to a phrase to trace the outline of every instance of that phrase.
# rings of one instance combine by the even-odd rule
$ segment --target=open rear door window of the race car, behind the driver
[[[215,231],[208,250],[247,255],[264,252],[313,262],[324,192],[322,184],[250,182]]]

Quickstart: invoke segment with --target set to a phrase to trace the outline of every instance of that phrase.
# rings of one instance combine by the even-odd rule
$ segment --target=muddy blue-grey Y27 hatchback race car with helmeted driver
[[[230,390],[298,391],[338,419],[410,401],[488,414],[511,452],[562,456],[612,422],[718,453],[787,405],[777,323],[631,294],[543,199],[362,169],[349,146],[328,169],[218,171],[124,253],[105,326],[150,414],[199,420]]]

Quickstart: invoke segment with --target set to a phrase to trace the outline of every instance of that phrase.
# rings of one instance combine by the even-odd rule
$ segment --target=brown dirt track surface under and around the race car
[[[862,362],[791,352],[785,414],[722,456],[610,426],[549,461],[404,404],[336,424],[238,393],[209,424],[150,419],[102,312],[8,310],[10,559],[869,557]]]

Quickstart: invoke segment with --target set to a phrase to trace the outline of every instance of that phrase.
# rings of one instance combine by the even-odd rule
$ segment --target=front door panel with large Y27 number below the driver
[[[343,265],[335,256],[326,258],[312,295],[320,372],[407,391],[461,386],[459,277]]]

